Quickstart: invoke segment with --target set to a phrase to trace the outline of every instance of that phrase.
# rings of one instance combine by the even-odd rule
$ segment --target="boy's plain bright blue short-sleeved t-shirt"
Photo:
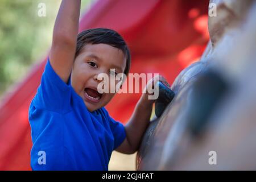
[[[49,60],[28,115],[33,170],[108,170],[112,151],[126,137],[104,107],[90,112]]]

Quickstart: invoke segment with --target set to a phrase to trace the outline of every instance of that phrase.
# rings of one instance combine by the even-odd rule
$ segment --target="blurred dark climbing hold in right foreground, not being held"
[[[194,136],[203,133],[209,117],[228,89],[224,79],[212,70],[202,73],[191,86],[191,109],[188,127]]]

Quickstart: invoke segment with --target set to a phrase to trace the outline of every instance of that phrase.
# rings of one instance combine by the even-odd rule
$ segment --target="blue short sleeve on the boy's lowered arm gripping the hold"
[[[115,150],[117,147],[122,144],[123,140],[126,138],[126,132],[125,132],[125,126],[121,122],[115,121],[112,117],[109,115],[109,125],[110,129],[112,130],[112,134],[114,136],[114,147],[113,150]]]

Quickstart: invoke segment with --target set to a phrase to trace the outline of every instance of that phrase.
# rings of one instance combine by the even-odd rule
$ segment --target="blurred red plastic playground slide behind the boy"
[[[200,58],[208,42],[207,1],[99,0],[80,21],[80,31],[106,27],[118,31],[131,50],[130,73],[159,73],[171,83]],[[40,84],[46,59],[0,105],[0,170],[30,170],[28,107]],[[117,94],[106,106],[127,122],[140,94]]]

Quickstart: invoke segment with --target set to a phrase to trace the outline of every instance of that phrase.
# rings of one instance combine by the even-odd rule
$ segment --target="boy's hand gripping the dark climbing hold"
[[[168,82],[166,81],[166,78],[164,78],[163,76],[159,75],[159,76],[155,76],[154,78],[152,78],[150,81],[147,82],[147,85],[145,86],[144,90],[143,90],[143,94],[141,96],[141,102],[144,103],[145,106],[150,106],[152,105],[155,100],[157,98],[154,99],[149,99],[150,96],[153,96],[154,93],[148,93],[148,90],[155,90],[155,85],[156,82],[162,82],[164,85],[166,85],[168,88],[170,88],[170,85],[168,84]]]

